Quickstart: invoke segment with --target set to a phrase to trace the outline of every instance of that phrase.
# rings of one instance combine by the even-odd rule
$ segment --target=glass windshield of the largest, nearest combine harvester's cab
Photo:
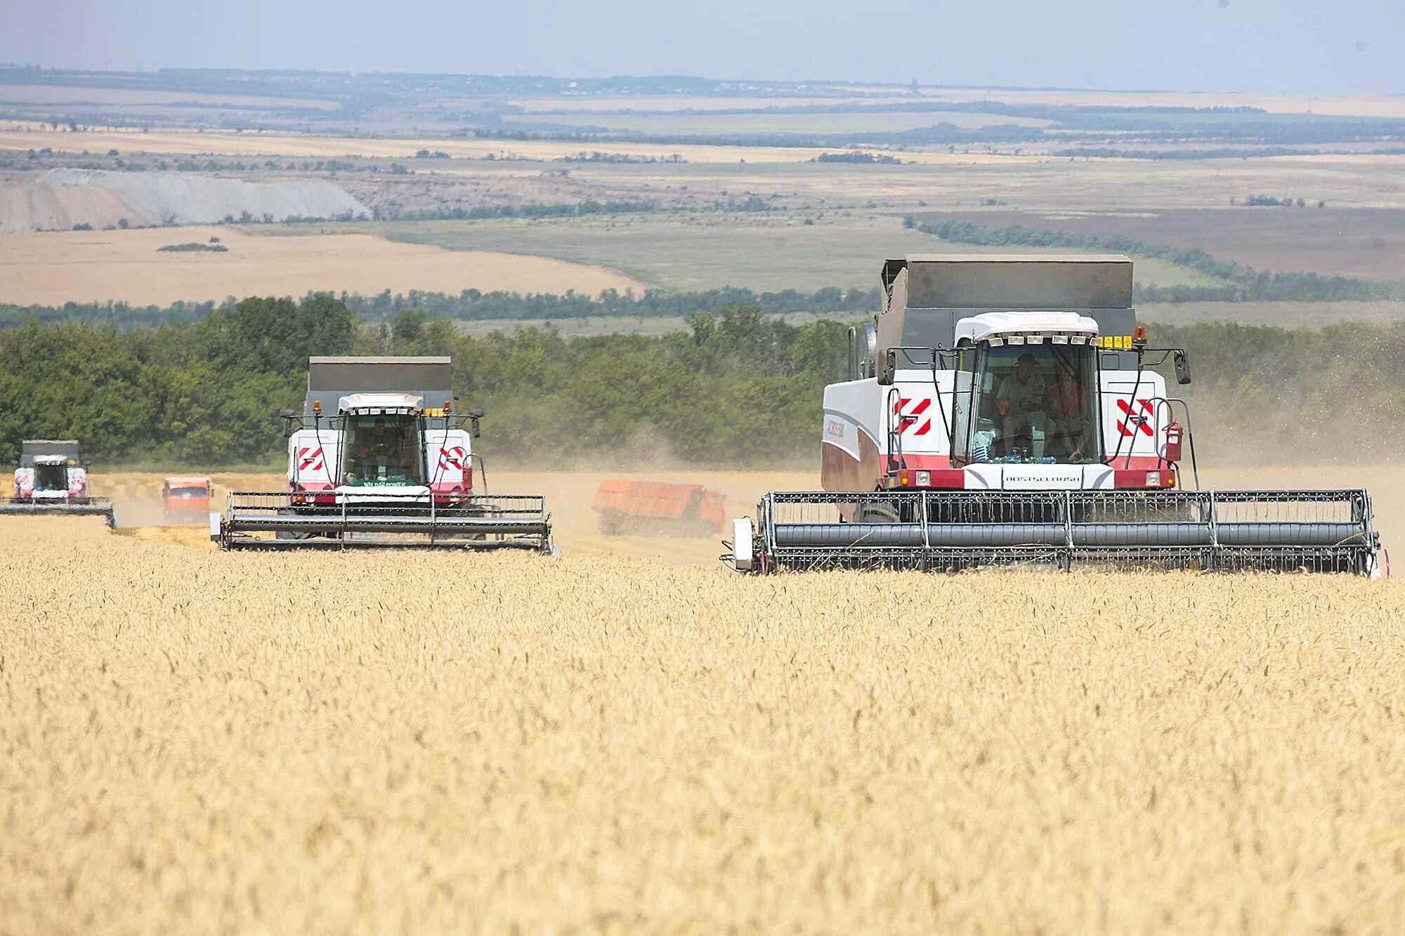
[[[1097,349],[1090,344],[984,346],[971,379],[969,461],[1102,461]],[[958,398],[958,405],[960,405]]]

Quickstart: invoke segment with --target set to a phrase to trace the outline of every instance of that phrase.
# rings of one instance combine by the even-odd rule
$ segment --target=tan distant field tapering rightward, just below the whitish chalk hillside
[[[162,253],[218,236],[228,253]],[[233,228],[0,235],[0,302],[121,299],[167,305],[228,295],[375,294],[478,288],[594,295],[643,284],[614,270],[548,257],[457,253],[370,235],[253,238]]]

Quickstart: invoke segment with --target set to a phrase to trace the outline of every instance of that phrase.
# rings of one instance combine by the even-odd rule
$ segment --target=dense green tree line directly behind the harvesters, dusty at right
[[[858,316],[854,316],[858,318]],[[450,354],[490,457],[710,467],[818,465],[822,391],[843,379],[847,322],[801,326],[733,302],[670,334],[461,334],[403,309],[361,322],[329,295],[249,298],[200,322],[118,330],[28,320],[0,330],[0,464],[22,438],[77,437],[100,464],[282,462],[274,417],[299,409],[312,354]],[[1201,464],[1405,455],[1405,325],[1151,326],[1189,349]]]

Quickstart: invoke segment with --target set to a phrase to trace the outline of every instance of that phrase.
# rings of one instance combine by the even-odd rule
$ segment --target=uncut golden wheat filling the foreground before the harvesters
[[[0,929],[1399,932],[1405,586],[0,520]]]

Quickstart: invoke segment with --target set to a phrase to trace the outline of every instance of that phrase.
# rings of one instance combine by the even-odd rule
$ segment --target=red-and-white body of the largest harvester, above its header
[[[1131,287],[1114,256],[889,260],[884,311],[825,389],[825,489],[1175,486],[1179,430]]]

